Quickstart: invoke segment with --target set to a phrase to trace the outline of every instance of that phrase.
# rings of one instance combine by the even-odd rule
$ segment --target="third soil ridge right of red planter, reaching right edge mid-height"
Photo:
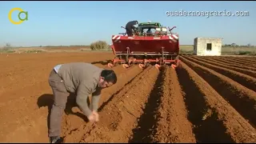
[[[234,71],[234,70],[229,70],[229,69],[226,69],[226,68],[223,68],[223,67],[214,66],[214,65],[211,65],[211,64],[206,63],[206,62],[201,62],[201,61],[198,61],[198,60],[196,60],[194,58],[191,58],[191,57],[183,56],[183,58],[186,58],[186,59],[190,60],[191,62],[198,63],[201,66],[205,66],[205,67],[207,67],[211,70],[214,70],[214,71],[218,72],[219,74],[223,74],[226,77],[231,78],[234,81],[240,83],[242,86],[246,86],[250,90],[256,91],[256,85],[255,85],[256,78],[250,77],[249,75],[242,74],[242,73],[239,73],[239,72]]]

